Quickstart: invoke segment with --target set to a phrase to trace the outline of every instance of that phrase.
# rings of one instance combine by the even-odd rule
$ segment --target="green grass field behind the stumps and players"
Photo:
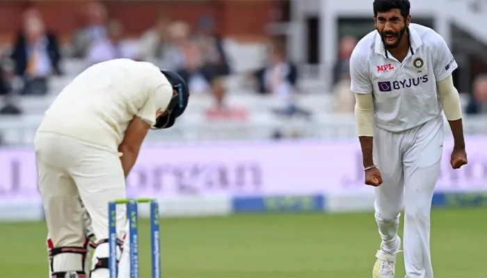
[[[431,229],[435,277],[487,277],[486,208],[433,211]],[[150,277],[148,230],[142,220],[141,277]],[[47,277],[45,237],[43,222],[0,224],[1,276]],[[165,278],[372,277],[378,245],[373,213],[161,219]]]

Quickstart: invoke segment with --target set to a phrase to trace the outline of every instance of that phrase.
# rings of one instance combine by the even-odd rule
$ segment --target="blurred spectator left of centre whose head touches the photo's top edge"
[[[96,40],[104,40],[107,36],[107,10],[100,2],[88,3],[85,10],[86,26],[74,33],[72,38],[73,56],[83,58],[90,45]]]

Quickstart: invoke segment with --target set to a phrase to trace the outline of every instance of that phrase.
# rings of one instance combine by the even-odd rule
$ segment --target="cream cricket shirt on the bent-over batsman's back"
[[[81,72],[56,97],[38,131],[48,131],[118,151],[134,116],[151,126],[166,111],[173,87],[159,67],[129,59],[98,63]]]

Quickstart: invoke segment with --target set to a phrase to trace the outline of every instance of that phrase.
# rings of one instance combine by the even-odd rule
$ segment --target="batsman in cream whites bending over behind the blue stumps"
[[[188,100],[181,76],[129,59],[88,67],[56,97],[34,139],[52,278],[109,277],[108,203],[126,197],[125,177],[149,129],[173,126]],[[82,204],[96,238],[89,275]],[[126,218],[119,206],[120,240]],[[129,277],[127,252],[125,245],[118,277]]]

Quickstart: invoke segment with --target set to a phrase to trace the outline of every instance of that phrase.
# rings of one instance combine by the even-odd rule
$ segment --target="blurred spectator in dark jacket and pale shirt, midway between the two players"
[[[269,65],[254,72],[261,94],[289,97],[296,92],[298,72],[296,65],[286,59],[285,44],[274,42],[271,46]]]

